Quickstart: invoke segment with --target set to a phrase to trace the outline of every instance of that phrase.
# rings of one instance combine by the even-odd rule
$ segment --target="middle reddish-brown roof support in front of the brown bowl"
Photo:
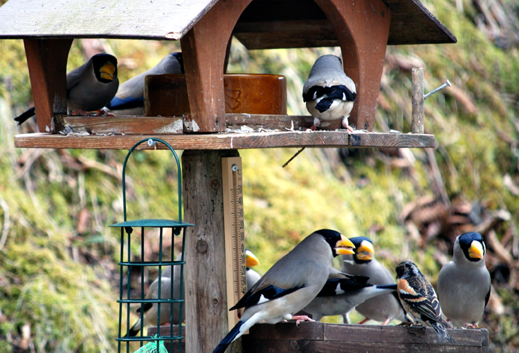
[[[225,131],[224,61],[235,24],[251,0],[218,1],[180,40],[190,115],[186,130]]]

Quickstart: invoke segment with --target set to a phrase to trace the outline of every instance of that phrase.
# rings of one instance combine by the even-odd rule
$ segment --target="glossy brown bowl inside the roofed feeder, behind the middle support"
[[[286,115],[286,77],[224,75],[226,113]],[[174,117],[190,113],[185,75],[147,75],[144,115]]]

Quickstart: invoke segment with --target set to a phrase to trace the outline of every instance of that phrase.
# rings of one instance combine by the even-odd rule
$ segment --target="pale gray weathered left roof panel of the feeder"
[[[0,38],[178,40],[217,1],[10,0],[0,8]]]

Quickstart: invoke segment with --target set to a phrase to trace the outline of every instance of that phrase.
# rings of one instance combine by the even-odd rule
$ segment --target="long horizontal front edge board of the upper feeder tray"
[[[285,131],[275,133],[219,133],[197,135],[64,136],[29,133],[15,136],[15,146],[37,149],[130,149],[136,142],[158,137],[174,149],[268,149],[276,147],[435,147],[434,135],[352,133],[345,131]],[[143,149],[154,149],[147,144]],[[159,144],[158,149],[164,147]]]

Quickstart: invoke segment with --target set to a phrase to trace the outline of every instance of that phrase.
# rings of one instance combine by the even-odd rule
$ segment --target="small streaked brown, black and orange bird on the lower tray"
[[[397,266],[398,295],[408,318],[426,323],[435,329],[441,342],[455,342],[446,327],[453,327],[441,314],[435,289],[421,273],[417,265],[404,261]]]

